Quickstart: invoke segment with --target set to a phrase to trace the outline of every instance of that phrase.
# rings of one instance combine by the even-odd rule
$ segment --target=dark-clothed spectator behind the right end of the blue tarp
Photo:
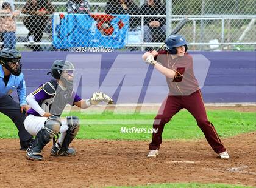
[[[133,0],[108,0],[105,6],[105,13],[113,15],[138,15],[140,12],[138,6]],[[140,18],[130,18],[130,29],[140,25]]]

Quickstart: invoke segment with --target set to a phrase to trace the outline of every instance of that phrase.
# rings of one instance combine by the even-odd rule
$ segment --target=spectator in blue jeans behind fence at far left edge
[[[15,49],[16,44],[16,23],[15,17],[20,14],[18,11],[13,11],[9,2],[2,4],[0,11],[0,30],[2,33],[3,48]]]

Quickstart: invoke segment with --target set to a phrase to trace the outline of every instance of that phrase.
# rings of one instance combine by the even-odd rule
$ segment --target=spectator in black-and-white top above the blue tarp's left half
[[[69,0],[66,3],[66,12],[74,14],[90,14],[91,10],[87,0]]]

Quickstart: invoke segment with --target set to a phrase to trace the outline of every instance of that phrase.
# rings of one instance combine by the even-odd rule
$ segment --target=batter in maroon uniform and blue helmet
[[[219,139],[215,127],[208,121],[201,90],[193,72],[193,58],[186,53],[187,44],[183,36],[171,35],[166,39],[166,50],[160,52],[154,50],[143,55],[146,63],[154,65],[155,69],[166,76],[169,87],[168,96],[162,102],[155,117],[153,127],[158,131],[152,135],[148,157],[155,158],[159,155],[165,124],[179,110],[185,108],[196,119],[197,125],[204,132],[212,149],[221,159],[229,159],[229,154]]]

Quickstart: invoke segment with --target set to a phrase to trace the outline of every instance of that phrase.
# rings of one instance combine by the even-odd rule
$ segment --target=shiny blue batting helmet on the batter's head
[[[186,41],[185,38],[181,35],[170,35],[166,39],[166,49],[168,50],[169,53],[171,54],[176,54],[177,50],[176,47],[184,46],[185,51],[187,52],[188,47],[187,47],[188,42]]]

